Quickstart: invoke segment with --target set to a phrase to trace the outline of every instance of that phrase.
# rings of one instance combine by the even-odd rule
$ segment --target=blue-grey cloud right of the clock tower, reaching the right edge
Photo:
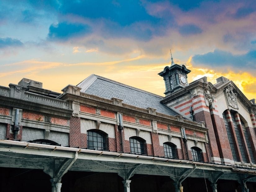
[[[234,55],[231,52],[215,49],[202,55],[194,55],[192,58],[195,66],[232,67],[233,70],[251,71],[255,70],[256,50],[251,50],[246,54]]]

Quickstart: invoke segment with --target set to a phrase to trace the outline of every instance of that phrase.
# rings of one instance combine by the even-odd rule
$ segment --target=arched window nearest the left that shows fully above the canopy
[[[106,135],[98,130],[87,131],[87,149],[107,150]]]

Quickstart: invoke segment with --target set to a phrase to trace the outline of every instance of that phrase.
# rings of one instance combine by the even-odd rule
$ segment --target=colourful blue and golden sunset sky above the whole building
[[[23,77],[61,93],[91,74],[164,96],[176,64],[225,76],[256,98],[254,0],[1,0],[0,85]]]

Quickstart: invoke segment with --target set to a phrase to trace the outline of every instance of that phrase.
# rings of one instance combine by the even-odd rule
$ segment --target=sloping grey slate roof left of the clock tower
[[[179,115],[169,107],[160,103],[163,97],[129,85],[124,85],[105,77],[92,74],[77,86],[82,88],[80,92],[86,94],[106,99],[111,99],[113,97],[119,98],[124,100],[123,103],[135,107],[143,109],[151,107],[156,109],[156,112],[159,113],[171,116]]]

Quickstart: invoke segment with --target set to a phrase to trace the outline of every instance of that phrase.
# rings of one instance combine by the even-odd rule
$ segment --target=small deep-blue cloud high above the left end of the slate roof
[[[61,22],[49,27],[49,39],[68,40],[70,37],[87,35],[91,28],[87,24]]]

